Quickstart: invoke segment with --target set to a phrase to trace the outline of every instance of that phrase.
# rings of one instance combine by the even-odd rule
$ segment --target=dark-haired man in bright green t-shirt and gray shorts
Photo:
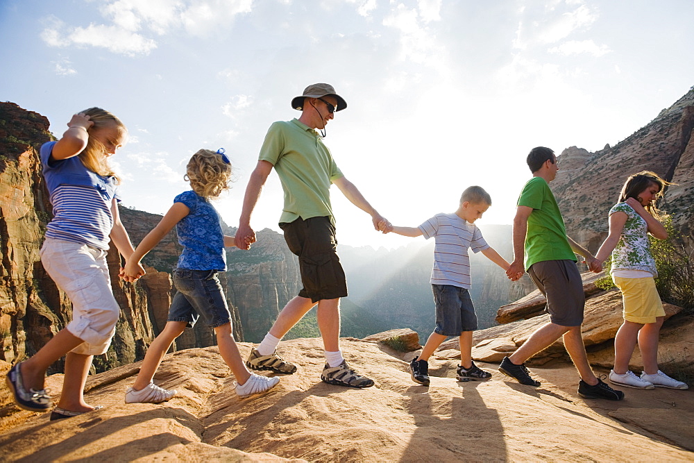
[[[518,197],[513,231],[514,262],[506,273],[511,280],[517,280],[527,271],[547,298],[545,310],[550,314],[550,321],[533,332],[516,352],[505,357],[499,371],[521,384],[539,386],[540,382],[525,368],[525,361],[563,337],[564,347],[581,376],[578,394],[584,398],[619,401],[624,398],[623,392],[597,378],[588,363],[581,336],[586,297],[574,253],[584,256],[584,262],[595,273],[602,271],[602,266],[589,251],[566,235],[564,219],[548,185],[559,171],[554,151],[538,146],[530,151],[526,162],[532,178]]]

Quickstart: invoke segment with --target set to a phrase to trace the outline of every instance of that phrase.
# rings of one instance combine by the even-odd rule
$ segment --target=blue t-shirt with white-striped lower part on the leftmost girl
[[[53,205],[46,237],[108,250],[113,228],[111,203],[119,199],[112,177],[102,177],[82,164],[78,156],[51,160],[56,142],[41,146],[43,174]]]

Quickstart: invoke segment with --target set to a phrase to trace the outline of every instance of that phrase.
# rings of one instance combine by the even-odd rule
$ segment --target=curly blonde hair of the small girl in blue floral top
[[[226,155],[201,149],[190,158],[185,169],[183,178],[203,198],[217,198],[230,188],[232,171]]]

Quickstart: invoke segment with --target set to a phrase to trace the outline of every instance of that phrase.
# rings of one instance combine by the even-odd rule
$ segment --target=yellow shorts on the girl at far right
[[[656,317],[665,317],[663,303],[655,280],[648,278],[622,278],[612,276],[612,281],[622,292],[623,317],[634,323],[655,323]]]

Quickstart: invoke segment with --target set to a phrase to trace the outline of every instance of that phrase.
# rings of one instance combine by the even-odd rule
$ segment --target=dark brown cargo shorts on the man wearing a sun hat
[[[345,272],[337,257],[335,227],[329,217],[311,217],[280,228],[285,233],[289,251],[298,255],[303,288],[299,296],[313,302],[347,296]]]

